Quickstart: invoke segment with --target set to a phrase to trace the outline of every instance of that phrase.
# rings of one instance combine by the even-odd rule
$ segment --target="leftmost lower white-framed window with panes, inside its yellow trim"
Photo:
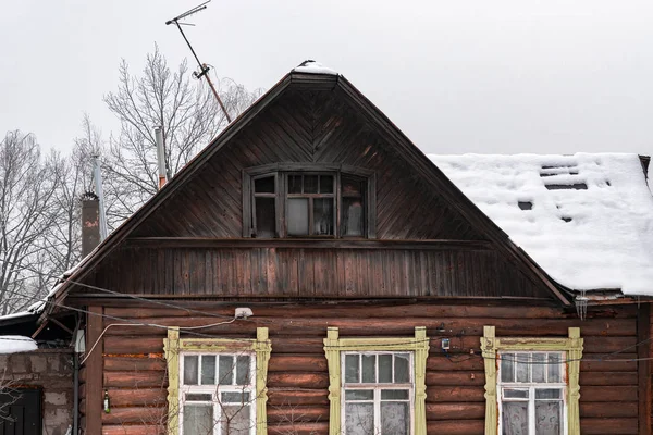
[[[181,357],[180,435],[256,434],[254,352]]]

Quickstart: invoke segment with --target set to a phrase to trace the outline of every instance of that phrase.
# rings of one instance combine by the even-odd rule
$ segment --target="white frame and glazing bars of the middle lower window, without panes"
[[[360,355],[359,358],[359,373],[362,376],[362,356],[364,355],[396,355],[404,353],[408,355],[408,383],[395,384],[395,383],[347,383],[346,378],[346,370],[345,370],[345,360],[347,355]],[[377,378],[379,377],[379,365],[378,365],[378,357],[377,357]],[[346,435],[346,403],[347,402],[369,402],[369,400],[346,400],[346,391],[350,389],[365,389],[365,390],[373,390],[373,406],[374,406],[374,433],[381,433],[381,391],[387,389],[408,389],[408,410],[409,418],[408,421],[408,433],[410,435],[415,434],[415,352],[410,350],[393,350],[393,351],[343,351],[341,352],[341,373],[342,373],[342,395],[341,395],[341,427],[343,434]],[[393,366],[392,366],[392,375],[394,377],[394,358],[393,358]],[[404,400],[391,400],[391,401],[404,401]]]

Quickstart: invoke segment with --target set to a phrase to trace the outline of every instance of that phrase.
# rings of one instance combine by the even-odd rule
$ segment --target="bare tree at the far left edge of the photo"
[[[45,288],[44,235],[57,222],[60,171],[59,156],[44,158],[33,135],[9,132],[0,141],[0,315]]]

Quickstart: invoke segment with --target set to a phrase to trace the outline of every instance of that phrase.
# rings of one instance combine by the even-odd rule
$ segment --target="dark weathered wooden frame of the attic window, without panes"
[[[274,163],[243,170],[243,237],[256,237],[254,224],[254,181],[263,176],[274,176],[275,186],[275,237],[286,238],[286,179],[288,174],[324,174],[335,176],[335,231],[333,236],[301,236],[303,238],[375,238],[377,237],[377,177],[373,171],[361,167],[322,163]],[[365,233],[360,237],[343,237],[341,233],[342,198],[341,175],[364,178],[365,188]]]

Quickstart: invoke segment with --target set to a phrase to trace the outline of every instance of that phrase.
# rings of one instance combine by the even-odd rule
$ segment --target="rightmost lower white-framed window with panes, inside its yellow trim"
[[[498,412],[503,435],[565,435],[565,352],[500,352]]]

